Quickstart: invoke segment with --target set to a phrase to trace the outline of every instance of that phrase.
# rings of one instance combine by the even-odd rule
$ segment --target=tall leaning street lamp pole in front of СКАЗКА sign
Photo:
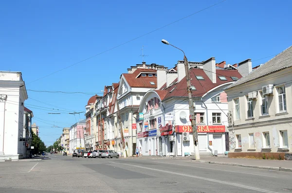
[[[166,45],[170,45],[183,52],[182,49],[179,49],[178,47],[171,45],[165,39],[161,40],[161,42]],[[195,108],[194,108],[194,103],[193,103],[193,98],[192,98],[191,79],[190,79],[190,73],[188,69],[188,62],[187,62],[187,58],[185,57],[184,52],[183,52],[183,61],[184,61],[184,70],[185,70],[185,76],[186,76],[186,86],[187,86],[186,89],[187,89],[187,94],[188,94],[189,110],[190,110],[190,115],[192,118],[191,122],[192,122],[193,139],[194,139],[194,145],[195,145],[195,158],[198,160],[200,159],[200,154],[199,154],[198,132],[197,132],[196,121],[195,121]]]

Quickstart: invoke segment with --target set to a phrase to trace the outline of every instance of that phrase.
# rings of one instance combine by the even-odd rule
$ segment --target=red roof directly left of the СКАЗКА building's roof
[[[157,70],[152,69],[138,69],[135,70],[132,74],[124,73],[124,77],[127,80],[130,87],[138,88],[156,88],[157,87],[157,78],[155,76],[149,77],[137,77],[140,72],[157,72]],[[136,78],[137,77],[137,78]],[[154,85],[151,85],[150,82],[154,82]]]

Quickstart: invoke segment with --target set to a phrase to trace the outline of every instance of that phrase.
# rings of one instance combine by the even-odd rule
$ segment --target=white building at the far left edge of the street
[[[0,71],[0,159],[25,155],[23,112],[27,92],[21,72]]]

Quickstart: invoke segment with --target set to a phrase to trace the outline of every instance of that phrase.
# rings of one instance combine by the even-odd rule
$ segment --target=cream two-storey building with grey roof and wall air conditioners
[[[240,70],[240,69],[248,70]],[[292,47],[246,74],[225,92],[228,96],[230,157],[284,157],[292,147]]]

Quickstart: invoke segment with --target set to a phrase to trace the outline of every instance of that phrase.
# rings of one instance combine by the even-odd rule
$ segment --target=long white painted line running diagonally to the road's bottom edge
[[[143,169],[147,169],[147,170],[153,170],[153,171],[157,171],[157,172],[168,173],[168,174],[182,175],[182,176],[186,176],[186,177],[202,179],[202,180],[216,182],[216,183],[220,183],[220,184],[226,184],[226,185],[230,185],[230,186],[237,186],[237,187],[240,187],[240,188],[245,188],[245,189],[249,189],[249,190],[255,190],[255,191],[258,191],[258,192],[262,192],[262,193],[277,193],[277,192],[273,192],[273,191],[269,191],[269,190],[259,189],[259,188],[255,188],[255,187],[251,187],[251,186],[245,186],[245,185],[236,184],[236,183],[232,183],[232,182],[220,181],[220,180],[211,179],[211,178],[200,177],[200,176],[196,176],[196,175],[181,174],[181,173],[170,172],[170,171],[165,171],[165,170],[159,170],[159,169],[154,169],[154,168],[147,168],[147,167],[133,165],[133,164],[127,164],[127,163],[116,163],[116,162],[112,162],[112,161],[109,161],[109,162],[110,163],[115,163],[115,164],[128,165],[128,166],[131,166],[131,167],[143,168]]]

